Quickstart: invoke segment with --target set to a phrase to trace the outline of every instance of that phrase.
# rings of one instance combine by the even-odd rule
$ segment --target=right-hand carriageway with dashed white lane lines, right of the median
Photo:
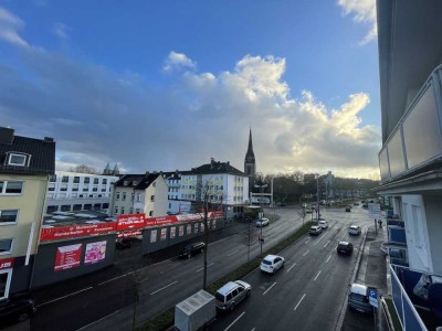
[[[317,237],[306,237],[281,253],[285,267],[276,275],[259,269],[243,280],[252,296],[233,312],[219,316],[213,330],[335,330],[355,268],[362,236],[349,236],[347,226],[367,228],[367,212],[324,211],[329,227]],[[338,241],[354,243],[351,256],[338,256]]]

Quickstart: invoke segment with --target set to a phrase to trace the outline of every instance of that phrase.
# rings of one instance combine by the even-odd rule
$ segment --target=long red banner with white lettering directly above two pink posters
[[[43,227],[40,241],[59,241],[66,238],[84,237],[97,234],[107,234],[116,231],[116,222],[96,224],[73,224],[67,226]]]

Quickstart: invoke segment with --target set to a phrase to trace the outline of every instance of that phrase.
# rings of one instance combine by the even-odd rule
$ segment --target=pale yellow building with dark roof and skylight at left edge
[[[15,136],[0,127],[0,300],[28,290],[55,170],[52,138]]]

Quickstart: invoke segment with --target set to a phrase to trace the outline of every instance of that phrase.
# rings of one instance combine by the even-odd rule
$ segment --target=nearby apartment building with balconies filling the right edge
[[[408,255],[391,266],[393,301],[404,330],[427,330],[428,311],[442,319],[442,2],[378,0],[377,11],[378,193],[393,197]]]

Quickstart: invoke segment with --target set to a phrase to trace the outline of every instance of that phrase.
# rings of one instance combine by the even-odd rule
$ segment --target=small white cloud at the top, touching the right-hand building
[[[365,45],[376,39],[378,35],[376,0],[338,0],[338,6],[344,9],[345,17],[352,14],[355,22],[370,25],[370,31],[359,42],[360,45]]]

